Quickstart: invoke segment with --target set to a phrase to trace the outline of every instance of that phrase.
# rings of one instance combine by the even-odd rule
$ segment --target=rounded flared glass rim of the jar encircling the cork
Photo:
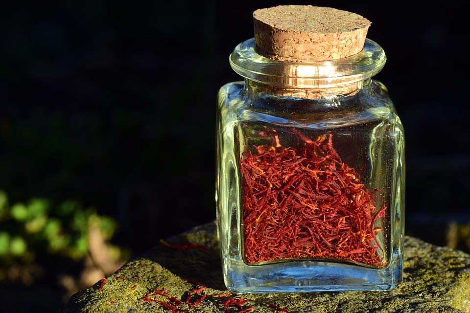
[[[288,62],[266,58],[256,52],[255,39],[237,45],[229,57],[240,76],[278,87],[323,89],[353,84],[376,75],[387,57],[382,47],[366,39],[364,48],[350,57],[316,62]]]

